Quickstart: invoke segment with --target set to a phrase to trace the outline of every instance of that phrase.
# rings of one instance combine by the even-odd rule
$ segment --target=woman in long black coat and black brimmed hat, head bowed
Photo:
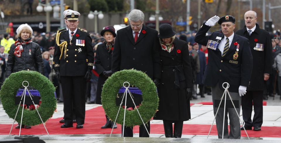
[[[169,24],[161,25],[159,32],[162,72],[158,88],[159,111],[154,120],[163,120],[166,137],[178,138],[182,134],[183,121],[190,119],[193,80],[188,44],[175,37]]]

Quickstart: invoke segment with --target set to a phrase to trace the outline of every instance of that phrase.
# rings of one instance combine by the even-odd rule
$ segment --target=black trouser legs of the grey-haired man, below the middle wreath
[[[150,133],[150,121],[145,124],[148,132]],[[123,126],[121,128],[122,136],[123,136]],[[127,127],[125,126],[124,129],[124,137],[133,137],[133,127]],[[144,128],[144,125],[139,125],[139,137],[149,137],[146,129]]]

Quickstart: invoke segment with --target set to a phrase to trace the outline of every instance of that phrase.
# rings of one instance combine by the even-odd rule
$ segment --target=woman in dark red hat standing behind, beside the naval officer
[[[97,86],[97,97],[96,104],[101,104],[101,91],[103,84],[111,76],[111,61],[112,61],[112,51],[114,47],[114,37],[116,37],[115,29],[112,26],[107,26],[101,31],[101,35],[104,37],[104,43],[98,45],[95,56],[95,66],[96,71],[99,74],[98,77],[98,86]],[[109,118],[106,117],[106,123],[101,128],[117,128],[114,122],[111,122]]]

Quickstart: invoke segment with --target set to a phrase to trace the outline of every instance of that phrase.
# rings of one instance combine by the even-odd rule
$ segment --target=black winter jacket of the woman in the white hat
[[[17,57],[14,55],[16,46],[14,44],[11,45],[6,67],[6,76],[10,76],[11,73],[22,70],[38,71],[44,75],[40,46],[34,42],[22,46],[23,52],[21,52],[21,57]]]

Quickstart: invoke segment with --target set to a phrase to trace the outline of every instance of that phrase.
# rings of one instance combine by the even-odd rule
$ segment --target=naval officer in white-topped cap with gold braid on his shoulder
[[[59,31],[56,37],[53,63],[64,98],[65,119],[61,128],[73,127],[72,114],[76,115],[76,128],[83,128],[86,81],[91,79],[94,62],[92,39],[86,30],[77,27],[79,12],[69,11],[65,15],[69,29]]]

